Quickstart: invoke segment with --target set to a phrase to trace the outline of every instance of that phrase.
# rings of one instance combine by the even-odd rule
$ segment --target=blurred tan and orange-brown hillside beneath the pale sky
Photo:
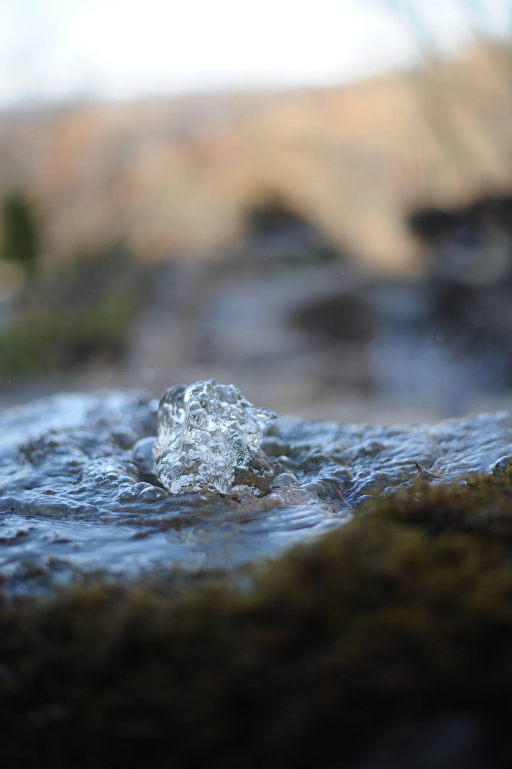
[[[277,192],[361,260],[414,270],[411,209],[510,191],[511,86],[489,44],[342,88],[4,114],[0,195],[35,197],[51,260],[121,238],[214,258]]]

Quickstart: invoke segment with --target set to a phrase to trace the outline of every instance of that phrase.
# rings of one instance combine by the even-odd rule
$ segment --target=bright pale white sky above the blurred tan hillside
[[[0,0],[0,107],[346,82],[510,35],[512,0]],[[393,10],[392,10],[393,9]]]

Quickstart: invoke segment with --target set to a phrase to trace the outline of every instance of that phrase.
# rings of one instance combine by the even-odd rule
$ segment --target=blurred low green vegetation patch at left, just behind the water
[[[28,285],[18,319],[0,328],[3,378],[65,371],[125,351],[135,269],[124,252],[82,257]]]

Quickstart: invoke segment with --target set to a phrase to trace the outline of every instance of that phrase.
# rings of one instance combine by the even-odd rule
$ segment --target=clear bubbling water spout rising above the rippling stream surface
[[[171,494],[268,487],[271,464],[260,448],[276,415],[256,408],[232,384],[213,379],[164,393],[153,452],[155,473]]]

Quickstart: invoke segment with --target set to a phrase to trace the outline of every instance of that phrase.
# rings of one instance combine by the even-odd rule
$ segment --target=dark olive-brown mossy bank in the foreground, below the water
[[[175,574],[5,598],[2,754],[28,767],[507,766],[510,521],[507,477],[418,484],[243,588]],[[450,764],[425,763],[422,730],[450,714],[477,727],[457,732]],[[383,763],[404,734],[409,763]],[[361,763],[372,750],[381,764]]]

